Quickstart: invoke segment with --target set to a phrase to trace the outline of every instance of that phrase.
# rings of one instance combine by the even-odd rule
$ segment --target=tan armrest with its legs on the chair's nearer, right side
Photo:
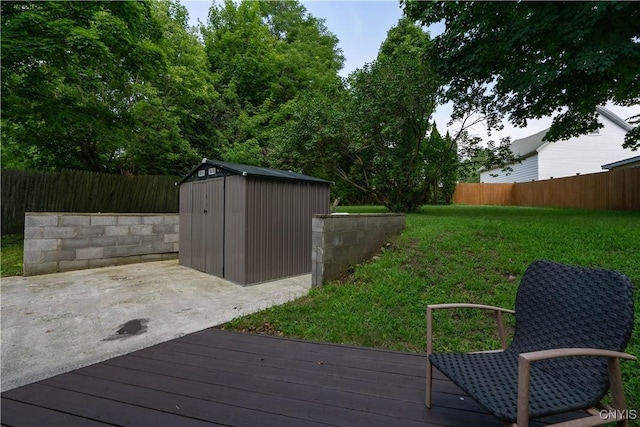
[[[603,350],[599,348],[557,348],[551,350],[521,353],[518,356],[518,426],[526,426],[529,421],[529,385],[531,383],[531,363],[540,360],[558,359],[562,357],[596,356],[609,359],[609,381],[613,406],[624,410],[624,391],[622,388],[622,374],[620,359],[638,360],[635,356],[619,351]]]

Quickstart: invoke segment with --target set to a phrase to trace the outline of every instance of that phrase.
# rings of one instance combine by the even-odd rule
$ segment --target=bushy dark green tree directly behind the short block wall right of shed
[[[278,156],[320,176],[337,176],[394,212],[417,209],[427,197],[430,117],[439,88],[428,58],[429,35],[401,20],[378,59],[343,83],[289,104]],[[455,150],[454,150],[455,153]]]

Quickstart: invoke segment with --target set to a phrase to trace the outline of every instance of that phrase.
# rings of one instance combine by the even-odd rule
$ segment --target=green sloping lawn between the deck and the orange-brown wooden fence
[[[341,210],[384,212],[379,207]],[[519,280],[536,259],[611,268],[629,276],[635,287],[636,319],[627,352],[640,356],[637,212],[425,207],[407,215],[407,228],[377,260],[355,266],[343,280],[312,289],[306,297],[222,327],[424,352],[427,304],[474,302],[513,308]],[[434,322],[435,351],[499,348],[488,313],[436,312]],[[628,407],[640,411],[638,362],[622,365]]]

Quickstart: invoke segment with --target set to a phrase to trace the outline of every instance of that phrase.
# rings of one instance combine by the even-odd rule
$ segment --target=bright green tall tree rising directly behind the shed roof
[[[276,129],[290,117],[287,105],[338,78],[344,58],[337,38],[297,1],[226,0],[211,7],[201,30],[214,81],[233,100],[220,133],[224,156],[253,153],[269,164],[269,153],[279,151]]]

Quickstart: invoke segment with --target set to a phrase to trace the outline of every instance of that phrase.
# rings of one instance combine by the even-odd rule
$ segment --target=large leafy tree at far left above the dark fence
[[[195,151],[163,81],[176,75],[163,44],[166,3],[1,8],[3,161],[161,174],[193,164]]]

